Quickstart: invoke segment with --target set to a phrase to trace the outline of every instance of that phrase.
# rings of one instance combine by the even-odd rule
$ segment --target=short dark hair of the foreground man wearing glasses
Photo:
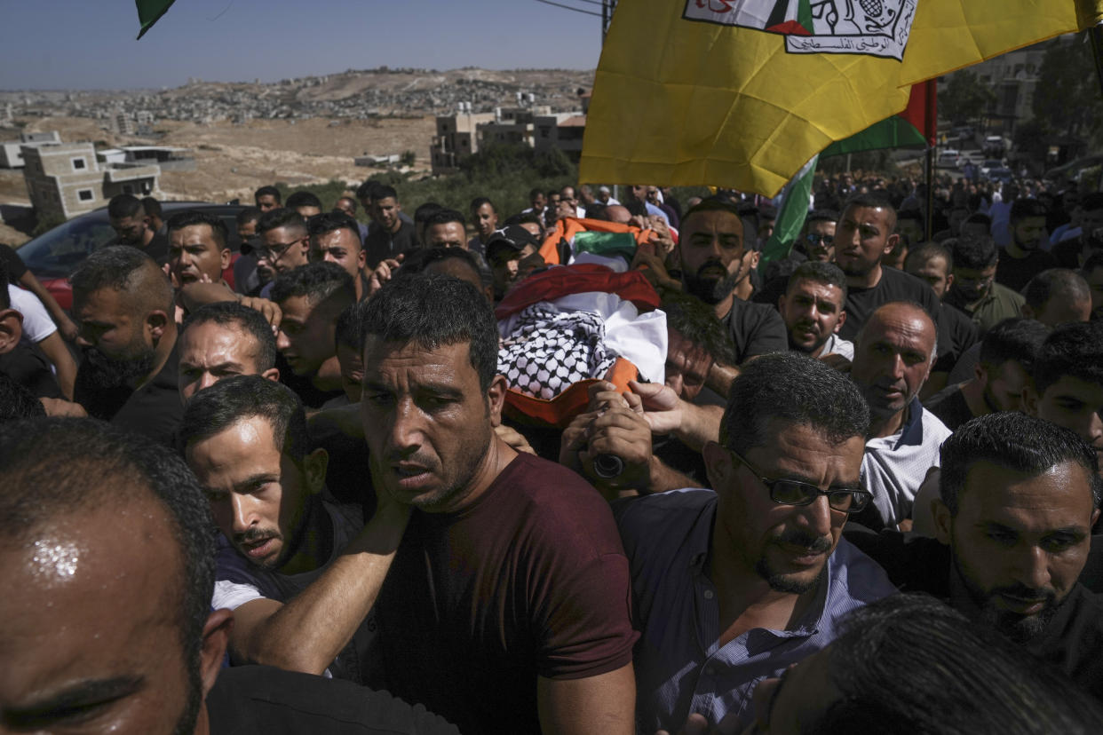
[[[746,364],[732,381],[720,443],[740,454],[763,446],[771,419],[806,425],[838,444],[866,435],[869,408],[838,370],[805,355],[777,353]]]

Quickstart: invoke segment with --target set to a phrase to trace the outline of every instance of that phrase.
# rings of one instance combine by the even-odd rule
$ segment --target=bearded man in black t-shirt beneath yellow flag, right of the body
[[[758,257],[743,247],[743,223],[735,206],[705,199],[689,209],[676,252],[685,290],[710,304],[730,329],[737,363],[789,348],[778,310],[746,301]]]

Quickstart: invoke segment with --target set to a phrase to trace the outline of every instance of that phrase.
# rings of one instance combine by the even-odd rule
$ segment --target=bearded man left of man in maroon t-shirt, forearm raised
[[[363,682],[367,613],[406,509],[381,507],[365,526],[360,508],[339,505],[325,489],[325,450],[307,451],[302,404],[259,376],[195,393],[180,440],[223,533],[212,604],[234,610],[231,661]],[[384,517],[394,532],[381,532]]]

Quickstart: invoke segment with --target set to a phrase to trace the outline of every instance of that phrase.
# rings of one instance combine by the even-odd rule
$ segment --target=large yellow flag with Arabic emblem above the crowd
[[[903,110],[912,84],[1085,28],[1101,7],[621,0],[595,79],[581,180],[772,196],[832,142]]]

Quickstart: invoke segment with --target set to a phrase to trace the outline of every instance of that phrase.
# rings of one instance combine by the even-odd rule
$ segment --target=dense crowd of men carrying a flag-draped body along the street
[[[621,191],[0,248],[0,731],[1099,732],[1103,194]]]

